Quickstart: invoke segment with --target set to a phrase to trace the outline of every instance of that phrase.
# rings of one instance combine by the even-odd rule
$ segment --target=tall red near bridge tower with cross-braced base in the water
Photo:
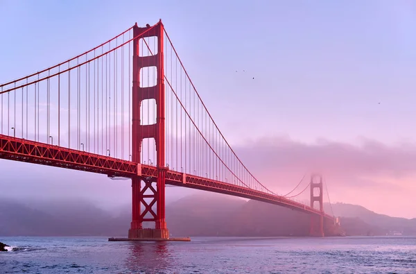
[[[132,161],[141,163],[141,144],[146,138],[154,138],[156,144],[157,179],[132,178],[132,222],[128,237],[168,239],[169,232],[165,221],[165,93],[164,93],[164,26],[159,21],[150,27],[133,27],[132,62]],[[140,38],[157,37],[157,53],[140,56]],[[144,44],[142,43],[144,46]],[[147,49],[147,48],[146,48]],[[140,74],[146,67],[156,67],[157,80],[153,87],[142,87]],[[147,99],[156,101],[156,123],[142,125],[141,103]],[[144,182],[144,187],[141,184]],[[154,183],[156,187],[154,186]],[[148,191],[150,194],[145,194]],[[146,199],[146,200],[145,200]],[[143,206],[143,210],[141,210]],[[156,212],[153,208],[156,207]],[[148,215],[146,217],[146,214]],[[149,217],[150,215],[150,217]],[[143,222],[154,222],[155,228],[143,228]]]

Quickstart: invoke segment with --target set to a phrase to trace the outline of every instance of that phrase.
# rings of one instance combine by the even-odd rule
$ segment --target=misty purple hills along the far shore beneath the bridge
[[[329,205],[324,205],[330,212]],[[332,205],[349,235],[385,235],[399,231],[416,235],[416,219],[371,212],[359,205]],[[0,236],[114,236],[125,237],[130,205],[107,212],[85,200],[20,203],[0,200]],[[246,202],[240,198],[197,195],[166,206],[166,221],[176,236],[306,236],[309,216],[285,207]]]

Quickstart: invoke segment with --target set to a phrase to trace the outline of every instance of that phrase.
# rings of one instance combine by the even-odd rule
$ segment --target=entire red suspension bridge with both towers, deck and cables
[[[250,173],[202,102],[162,22],[136,24],[0,85],[0,94],[0,157],[130,178],[129,238],[169,237],[166,184],[305,212],[313,236],[324,236],[334,223],[323,210],[320,175],[299,194],[281,196]],[[293,200],[307,189],[309,205]],[[155,228],[144,228],[146,222]]]

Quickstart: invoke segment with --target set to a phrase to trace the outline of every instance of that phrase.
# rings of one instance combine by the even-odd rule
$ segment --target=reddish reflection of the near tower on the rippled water
[[[131,242],[125,268],[133,273],[161,273],[171,266],[173,255],[169,243]]]

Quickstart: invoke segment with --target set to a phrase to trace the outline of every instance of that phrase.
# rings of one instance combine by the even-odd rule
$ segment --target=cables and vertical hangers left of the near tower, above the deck
[[[129,160],[132,28],[0,85],[0,133]]]

